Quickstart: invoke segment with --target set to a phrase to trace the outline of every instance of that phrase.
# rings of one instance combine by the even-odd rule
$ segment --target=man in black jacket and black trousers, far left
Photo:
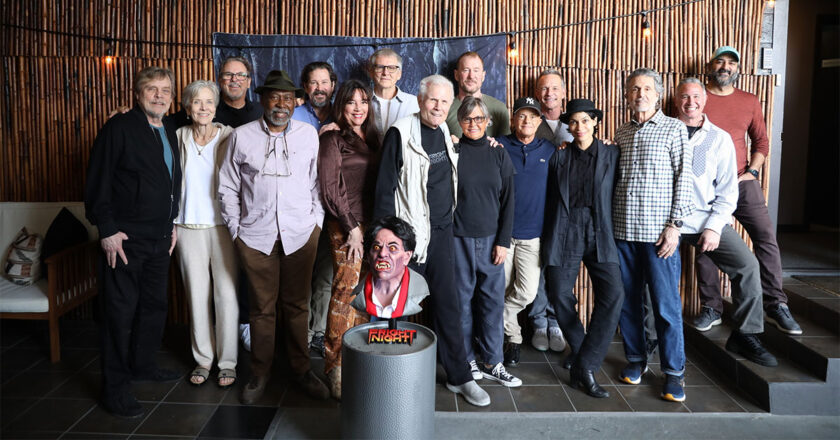
[[[93,144],[85,187],[88,220],[99,229],[102,405],[118,417],[143,408],[131,382],[177,380],[157,367],[166,321],[169,257],[175,247],[181,167],[175,128],[164,124],[174,76],[147,67],[134,79],[136,104],[108,120]]]

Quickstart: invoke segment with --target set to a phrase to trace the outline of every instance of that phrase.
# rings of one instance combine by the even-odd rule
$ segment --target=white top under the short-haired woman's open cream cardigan
[[[186,146],[186,161],[184,166],[184,201],[183,210],[175,220],[182,225],[223,225],[219,202],[216,200],[216,189],[213,188],[216,173],[216,145],[222,130],[216,130],[216,135],[205,146],[195,143],[192,136],[184,140]],[[199,154],[200,153],[200,154]]]

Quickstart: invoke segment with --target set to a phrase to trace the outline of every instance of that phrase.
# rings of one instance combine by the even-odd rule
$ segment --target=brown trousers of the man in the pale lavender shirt
[[[242,267],[251,282],[251,370],[255,376],[271,371],[278,310],[292,373],[303,376],[310,369],[306,332],[312,265],[320,233],[321,228],[313,228],[306,244],[290,255],[283,252],[279,240],[274,242],[271,254],[265,255],[236,239]]]

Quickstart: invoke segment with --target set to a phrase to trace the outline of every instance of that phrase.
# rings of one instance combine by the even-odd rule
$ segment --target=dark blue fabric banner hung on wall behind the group
[[[505,102],[507,75],[507,47],[505,35],[489,35],[453,40],[427,38],[365,38],[322,37],[315,35],[245,35],[214,33],[213,61],[216,71],[228,56],[240,55],[254,66],[254,80],[248,92],[256,101],[254,89],[260,86],[268,72],[285,70],[300,85],[303,66],[313,61],[326,61],[333,66],[338,81],[356,78],[370,83],[365,72],[368,57],[377,49],[389,47],[403,58],[402,78],[397,86],[417,94],[420,80],[439,73],[455,83],[455,61],[462,53],[475,51],[484,60],[486,77],[481,93]],[[278,47],[279,46],[279,47]],[[457,85],[456,85],[457,87]],[[336,86],[336,89],[338,86]],[[457,94],[457,90],[456,90]]]

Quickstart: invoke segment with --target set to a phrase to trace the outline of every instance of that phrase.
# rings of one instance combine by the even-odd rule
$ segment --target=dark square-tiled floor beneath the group
[[[336,437],[339,433],[339,403],[309,399],[284,380],[282,367],[277,368],[266,395],[253,406],[239,403],[238,387],[220,389],[214,383],[194,387],[182,380],[134,386],[133,392],[146,409],[145,416],[130,421],[116,419],[96,401],[101,382],[96,325],[90,321],[65,321],[61,335],[62,360],[50,364],[45,324],[0,321],[0,438],[282,437],[288,424],[301,419],[296,417],[300,414],[318,414],[323,420],[320,426],[304,429],[315,437]],[[243,353],[238,368],[239,386],[249,375],[247,353]],[[613,342],[597,375],[611,393],[607,399],[593,399],[567,386],[568,372],[559,367],[562,354],[541,353],[523,346],[521,365],[510,371],[523,380],[524,386],[508,389],[483,380],[481,385],[493,403],[477,408],[438,384],[436,407],[446,412],[506,413],[763,412],[726,378],[718,377],[699,355],[688,350],[687,357],[684,403],[659,398],[661,374],[656,363],[641,385],[619,383],[616,377],[624,365],[623,351],[619,342]],[[185,373],[193,367],[186,327],[167,329],[159,363]],[[317,356],[313,357],[313,368],[323,368],[323,361]]]

